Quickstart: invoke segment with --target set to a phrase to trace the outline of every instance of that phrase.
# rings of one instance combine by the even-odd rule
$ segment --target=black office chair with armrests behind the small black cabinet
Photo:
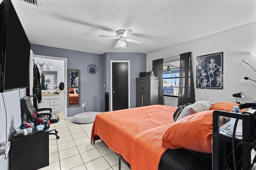
[[[38,113],[40,111],[49,111],[49,112],[46,112],[46,113],[39,113],[39,114],[42,115],[42,116],[47,116],[47,119],[50,121],[50,124],[57,123],[60,120],[58,115],[52,114],[52,108],[36,109],[33,106],[29,96],[24,96],[23,98],[21,98],[20,102],[21,102],[22,111],[26,115],[26,121],[29,122],[29,123],[34,123],[34,118],[31,115],[31,113],[33,113],[34,111],[37,111]],[[49,131],[49,135],[55,135],[56,139],[59,139],[60,137],[57,135],[57,133],[58,133],[58,131],[56,131],[56,129],[52,129],[52,130]]]

